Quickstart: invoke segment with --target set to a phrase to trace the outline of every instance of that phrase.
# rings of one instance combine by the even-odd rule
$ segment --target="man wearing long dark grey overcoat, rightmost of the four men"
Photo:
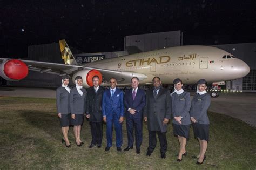
[[[144,120],[147,122],[149,130],[147,156],[151,156],[157,145],[157,133],[160,142],[161,158],[165,158],[167,150],[167,123],[171,118],[171,96],[170,92],[161,86],[159,77],[154,77],[152,81],[153,88],[146,92],[146,106],[143,112]]]

